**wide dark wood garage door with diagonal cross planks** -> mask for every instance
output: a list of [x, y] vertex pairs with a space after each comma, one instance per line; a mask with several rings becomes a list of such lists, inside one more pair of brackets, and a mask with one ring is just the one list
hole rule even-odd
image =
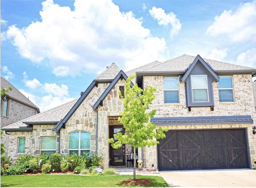
[[168, 131], [159, 170], [249, 168], [245, 129]]

